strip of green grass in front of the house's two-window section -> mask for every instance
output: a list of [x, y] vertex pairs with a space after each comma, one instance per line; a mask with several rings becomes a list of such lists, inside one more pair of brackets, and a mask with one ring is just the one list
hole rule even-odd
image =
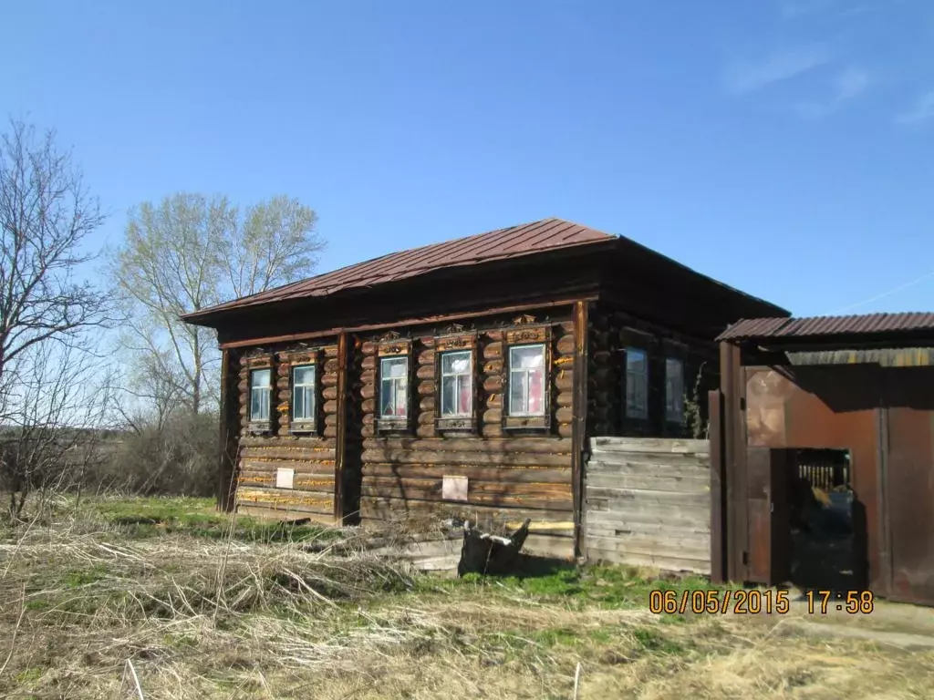
[[213, 498], [134, 497], [90, 501], [92, 515], [118, 525], [132, 539], [183, 533], [209, 539], [246, 542], [281, 542], [333, 539], [336, 531], [324, 525], [289, 525], [237, 515], [231, 532], [231, 517], [215, 511]]

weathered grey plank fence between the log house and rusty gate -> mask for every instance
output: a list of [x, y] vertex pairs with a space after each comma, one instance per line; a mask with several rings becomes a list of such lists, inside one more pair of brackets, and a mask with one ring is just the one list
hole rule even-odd
[[586, 471], [590, 562], [710, 573], [710, 443], [594, 438]]

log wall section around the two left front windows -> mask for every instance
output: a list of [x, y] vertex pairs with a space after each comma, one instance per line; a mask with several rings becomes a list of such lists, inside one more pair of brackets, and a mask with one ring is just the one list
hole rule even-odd
[[[257, 350], [240, 360], [236, 489], [239, 512], [333, 522], [337, 346], [319, 346], [314, 351], [318, 415], [316, 430], [310, 434], [290, 432], [290, 375], [296, 349]], [[255, 357], [270, 357], [274, 377], [270, 429], [261, 434], [249, 430], [249, 371], [250, 361]], [[292, 488], [276, 488], [277, 469], [294, 469]]]

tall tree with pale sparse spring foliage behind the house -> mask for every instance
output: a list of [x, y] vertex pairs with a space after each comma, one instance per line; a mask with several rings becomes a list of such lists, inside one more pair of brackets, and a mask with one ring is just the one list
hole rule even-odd
[[160, 420], [172, 407], [217, 409], [214, 331], [179, 319], [305, 276], [323, 243], [312, 209], [276, 197], [241, 211], [225, 197], [181, 193], [129, 215], [110, 270], [126, 313], [132, 390]]

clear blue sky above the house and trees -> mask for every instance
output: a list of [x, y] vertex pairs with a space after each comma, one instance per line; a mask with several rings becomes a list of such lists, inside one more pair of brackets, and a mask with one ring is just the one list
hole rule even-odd
[[[934, 310], [934, 4], [0, 2], [112, 213], [318, 211], [324, 272], [563, 217], [798, 315]], [[10, 31], [12, 30], [12, 31]], [[913, 283], [913, 284], [912, 284]]]

